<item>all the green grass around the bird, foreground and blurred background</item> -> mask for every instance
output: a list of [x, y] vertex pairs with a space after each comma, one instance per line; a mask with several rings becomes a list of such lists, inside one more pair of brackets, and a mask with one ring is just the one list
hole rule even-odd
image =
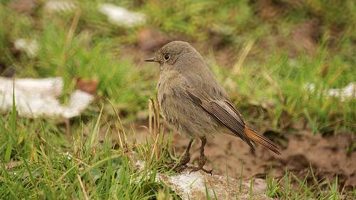
[[[153, 181], [157, 170], [164, 168], [159, 161], [167, 159], [165, 152], [172, 152], [171, 140], [155, 135], [145, 145], [125, 144], [123, 137], [117, 139], [121, 141], [117, 149], [109, 140], [96, 142], [99, 130], [115, 127], [118, 116], [120, 122], [128, 124], [139, 118], [138, 113], [143, 113], [144, 120], [150, 114], [147, 100], [155, 96], [158, 69], [137, 62], [144, 60], [137, 38], [145, 28], [206, 44], [209, 51], [198, 50], [204, 52], [206, 62], [241, 114], [248, 116], [248, 123], [281, 135], [299, 121], [306, 122], [315, 134], [337, 134], [340, 130], [355, 134], [355, 98], [340, 101], [325, 98], [322, 92], [356, 80], [354, 1], [111, 1], [147, 14], [147, 24], [133, 28], [109, 23], [97, 9], [101, 2], [75, 3], [76, 9], [64, 13], [48, 13], [40, 2], [31, 13], [19, 13], [12, 9], [12, 1], [1, 1], [1, 76], [12, 69], [18, 78], [61, 76], [65, 83], [63, 103], [74, 90], [76, 77], [98, 78], [99, 83], [96, 102], [70, 120], [70, 136], [63, 135], [65, 129], [56, 120], [25, 119], [16, 112], [1, 112], [0, 196], [178, 199], [167, 186]], [[313, 38], [312, 54], [293, 47], [290, 39], [300, 23], [311, 19], [316, 19], [321, 29]], [[37, 41], [36, 56], [16, 50], [18, 38]], [[223, 56], [230, 64], [222, 65], [216, 60], [221, 60], [219, 52], [225, 53], [226, 48], [233, 56]], [[137, 55], [127, 52], [132, 49]], [[290, 56], [292, 51], [296, 51], [294, 56]], [[306, 83], [315, 84], [315, 91], [305, 90]], [[266, 102], [271, 106], [266, 107]], [[157, 110], [155, 113], [157, 119]], [[156, 131], [152, 127], [152, 132], [159, 132], [158, 127]], [[117, 127], [121, 133], [124, 130]], [[108, 130], [106, 138], [113, 132]], [[145, 159], [143, 172], [130, 162], [127, 148]], [[355, 149], [352, 144], [345, 154], [350, 156]], [[149, 170], [153, 173], [147, 173]], [[336, 190], [337, 180], [323, 180], [323, 186], [315, 180], [310, 186], [307, 179], [300, 181], [287, 171], [282, 179], [269, 177], [268, 181], [266, 193], [278, 199], [341, 199], [345, 194]], [[298, 187], [297, 192], [293, 187]], [[352, 195], [355, 198], [355, 189]]]

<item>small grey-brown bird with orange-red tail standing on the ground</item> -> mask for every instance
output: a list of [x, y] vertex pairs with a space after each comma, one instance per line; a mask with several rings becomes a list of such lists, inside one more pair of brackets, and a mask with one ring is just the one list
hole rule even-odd
[[[240, 137], [253, 150], [256, 142], [281, 155], [276, 144], [246, 125], [204, 58], [189, 43], [169, 42], [155, 57], [145, 61], [159, 63], [157, 101], [162, 117], [172, 129], [190, 140], [177, 164], [179, 169], [211, 174], [212, 170], [204, 169], [204, 147], [207, 140], [221, 133]], [[198, 139], [201, 140], [198, 167], [188, 167], [192, 142]]]

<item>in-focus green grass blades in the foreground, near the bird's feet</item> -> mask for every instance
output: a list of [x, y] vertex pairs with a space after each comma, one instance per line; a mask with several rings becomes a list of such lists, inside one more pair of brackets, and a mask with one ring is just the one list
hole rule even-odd
[[[4, 132], [0, 137], [0, 196], [6, 199], [179, 199], [167, 185], [155, 181], [157, 172], [167, 173], [163, 171], [166, 167], [162, 161], [167, 159], [164, 152], [171, 145], [167, 143], [169, 136], [164, 138], [162, 132], [156, 132], [147, 138], [147, 144], [129, 144], [125, 140], [127, 130], [121, 127], [118, 130], [121, 140], [117, 138], [119, 147], [112, 148], [110, 130], [106, 140], [102, 144], [98, 142], [100, 116], [95, 117], [93, 125], [82, 124], [73, 142], [66, 146], [59, 142], [61, 135], [46, 129], [48, 125], [42, 120], [28, 123], [27, 119], [9, 115], [0, 126]], [[88, 137], [83, 135], [85, 128], [90, 128]], [[135, 132], [131, 134], [136, 137]], [[12, 143], [10, 150], [9, 143]], [[9, 152], [11, 160], [6, 161]], [[146, 162], [143, 169], [135, 165], [137, 159]], [[311, 186], [307, 184], [309, 174], [314, 177]], [[267, 180], [266, 194], [277, 199], [343, 199], [345, 194], [352, 199], [356, 195], [355, 188], [339, 191], [337, 178], [335, 181], [315, 179], [311, 167], [303, 180], [288, 170], [277, 180], [271, 172]], [[211, 197], [206, 195], [208, 199]]]

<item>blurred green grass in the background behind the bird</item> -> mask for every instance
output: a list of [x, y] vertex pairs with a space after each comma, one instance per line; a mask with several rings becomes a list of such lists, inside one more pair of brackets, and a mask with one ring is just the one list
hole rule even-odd
[[[3, 16], [0, 65], [6, 67], [6, 71], [14, 68], [16, 77], [61, 76], [65, 87], [63, 96], [74, 89], [75, 77], [98, 78], [99, 102], [110, 98], [120, 114], [126, 116], [125, 120], [135, 120], [137, 112], [147, 110], [146, 102], [155, 93], [158, 75], [157, 69], [147, 68], [144, 62], [136, 63], [133, 56], [121, 58], [127, 55], [125, 46], [137, 43], [140, 30], [153, 26], [164, 33], [180, 34], [189, 41], [203, 43], [219, 36], [219, 46], [229, 45], [236, 52], [236, 59], [231, 60], [232, 68], [223, 68], [214, 61], [217, 50], [204, 56], [209, 56], [206, 58], [211, 62], [209, 66], [232, 93], [231, 98], [236, 100], [241, 112], [250, 115], [253, 102], [268, 100], [275, 104], [271, 110], [261, 110], [258, 104], [253, 110], [258, 110], [254, 115], [261, 116], [259, 119], [268, 117], [273, 130], [286, 130], [295, 121], [307, 120], [315, 133], [355, 132], [352, 125], [356, 120], [355, 99], [323, 100], [318, 93], [308, 93], [303, 88], [306, 83], [317, 85], [316, 90], [343, 88], [356, 80], [353, 1], [345, 1], [345, 4], [321, 0], [300, 4], [276, 1], [267, 5], [228, 0], [146, 1], [143, 4], [122, 1], [119, 5], [147, 14], [147, 25], [135, 28], [110, 24], [96, 9], [99, 3], [85, 1], [77, 4], [77, 9], [63, 14], [48, 14], [43, 4], [38, 4], [30, 16], [16, 13], [9, 1], [4, 2], [0, 9]], [[271, 14], [264, 16], [263, 11]], [[314, 56], [298, 50], [295, 57], [290, 58], [290, 35], [308, 19], [318, 19], [323, 28]], [[40, 48], [36, 58], [15, 51], [11, 43], [16, 38], [38, 41]], [[264, 41], [268, 41], [268, 49], [263, 47]], [[226, 78], [232, 81], [224, 83]], [[229, 87], [231, 85], [233, 87]], [[241, 95], [246, 98], [241, 99]], [[105, 114], [112, 113], [106, 107], [105, 111]], [[249, 120], [261, 123], [256, 117]]]

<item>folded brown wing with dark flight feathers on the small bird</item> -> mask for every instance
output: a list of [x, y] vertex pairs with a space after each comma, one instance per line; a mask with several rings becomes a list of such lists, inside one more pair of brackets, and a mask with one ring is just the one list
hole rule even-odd
[[245, 122], [241, 117], [241, 114], [236, 107], [230, 102], [230, 100], [213, 99], [209, 97], [204, 91], [192, 88], [187, 83], [182, 84], [185, 92], [192, 99], [200, 105], [206, 112], [214, 116], [216, 120], [225, 125], [242, 140], [244, 140], [252, 149], [253, 144], [248, 139], [245, 132]]

